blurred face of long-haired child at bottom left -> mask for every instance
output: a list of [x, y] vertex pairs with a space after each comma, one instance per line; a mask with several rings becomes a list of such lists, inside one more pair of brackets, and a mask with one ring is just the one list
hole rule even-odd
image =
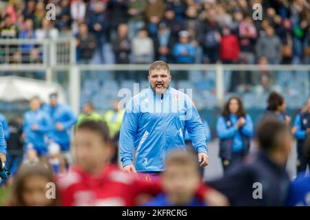
[[46, 197], [48, 179], [41, 176], [27, 177], [23, 182], [21, 197], [25, 206], [49, 206], [52, 199]]

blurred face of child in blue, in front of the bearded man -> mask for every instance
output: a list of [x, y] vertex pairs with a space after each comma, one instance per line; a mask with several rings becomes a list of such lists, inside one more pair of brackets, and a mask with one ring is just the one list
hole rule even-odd
[[163, 190], [175, 205], [189, 203], [200, 183], [198, 170], [194, 166], [170, 164], [163, 173]]

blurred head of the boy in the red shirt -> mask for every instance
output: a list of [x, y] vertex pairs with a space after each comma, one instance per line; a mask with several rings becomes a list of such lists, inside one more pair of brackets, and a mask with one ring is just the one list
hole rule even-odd
[[101, 121], [81, 122], [74, 130], [74, 163], [87, 173], [99, 173], [113, 155], [109, 129]]

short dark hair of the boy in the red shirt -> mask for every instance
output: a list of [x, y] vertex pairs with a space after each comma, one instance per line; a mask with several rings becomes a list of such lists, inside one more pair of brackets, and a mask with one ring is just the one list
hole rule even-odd
[[105, 124], [105, 122], [85, 120], [81, 122], [81, 124], [78, 124], [74, 127], [74, 133], [76, 133], [76, 131], [83, 130], [83, 129], [98, 133], [101, 136], [103, 142], [105, 142], [106, 144], [112, 143], [112, 140], [110, 137], [110, 131], [107, 127], [107, 124]]

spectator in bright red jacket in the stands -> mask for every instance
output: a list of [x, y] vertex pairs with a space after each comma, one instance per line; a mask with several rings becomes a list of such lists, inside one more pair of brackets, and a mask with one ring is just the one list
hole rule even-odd
[[240, 53], [238, 38], [231, 34], [229, 27], [226, 25], [222, 28], [222, 38], [220, 39], [220, 60], [222, 63], [237, 63]]

